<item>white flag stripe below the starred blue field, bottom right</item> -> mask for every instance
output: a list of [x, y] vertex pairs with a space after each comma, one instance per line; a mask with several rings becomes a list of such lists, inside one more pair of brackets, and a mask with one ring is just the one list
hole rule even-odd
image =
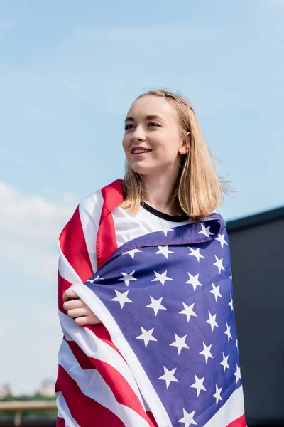
[[243, 386], [231, 394], [222, 408], [212, 416], [204, 427], [226, 427], [242, 415], [244, 415]]

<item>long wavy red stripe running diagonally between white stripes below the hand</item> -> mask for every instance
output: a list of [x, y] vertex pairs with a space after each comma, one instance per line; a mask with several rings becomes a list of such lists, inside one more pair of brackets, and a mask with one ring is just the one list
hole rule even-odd
[[97, 369], [99, 374], [102, 375], [105, 383], [113, 392], [116, 401], [118, 401], [119, 404], [128, 406], [133, 409], [133, 411], [136, 411], [136, 413], [148, 421], [149, 426], [154, 427], [153, 422], [146, 415], [146, 412], [141, 405], [141, 401], [139, 401], [133, 389], [131, 389], [131, 386], [129, 386], [129, 383], [124, 379], [124, 376], [122, 376], [119, 371], [107, 362], [94, 359], [93, 357], [88, 357], [75, 341], [67, 341], [67, 343], [82, 369]]

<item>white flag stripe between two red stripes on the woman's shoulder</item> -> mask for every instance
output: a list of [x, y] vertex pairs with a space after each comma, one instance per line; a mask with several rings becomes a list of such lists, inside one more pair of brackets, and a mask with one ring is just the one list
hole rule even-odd
[[102, 191], [97, 190], [79, 205], [84, 240], [86, 241], [93, 272], [97, 271], [97, 232], [103, 204]]

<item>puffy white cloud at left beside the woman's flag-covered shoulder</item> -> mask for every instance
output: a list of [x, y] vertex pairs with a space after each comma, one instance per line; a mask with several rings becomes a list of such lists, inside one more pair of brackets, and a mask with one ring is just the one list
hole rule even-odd
[[23, 273], [54, 280], [58, 236], [74, 211], [75, 198], [68, 194], [62, 204], [54, 204], [39, 196], [18, 194], [1, 182], [0, 206], [0, 258], [4, 268], [17, 265]]

